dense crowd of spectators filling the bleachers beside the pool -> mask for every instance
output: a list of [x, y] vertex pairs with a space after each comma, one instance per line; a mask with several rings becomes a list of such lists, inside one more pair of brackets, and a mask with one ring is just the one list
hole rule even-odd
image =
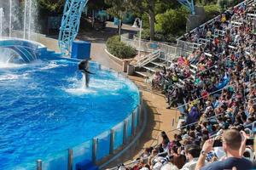
[[184, 37], [206, 41], [152, 80], [184, 121], [173, 140], [162, 132], [161, 143], [143, 150], [136, 165], [119, 169], [253, 169], [253, 144], [246, 142], [256, 121], [255, 19], [247, 18], [254, 11], [255, 2], [242, 3]]

